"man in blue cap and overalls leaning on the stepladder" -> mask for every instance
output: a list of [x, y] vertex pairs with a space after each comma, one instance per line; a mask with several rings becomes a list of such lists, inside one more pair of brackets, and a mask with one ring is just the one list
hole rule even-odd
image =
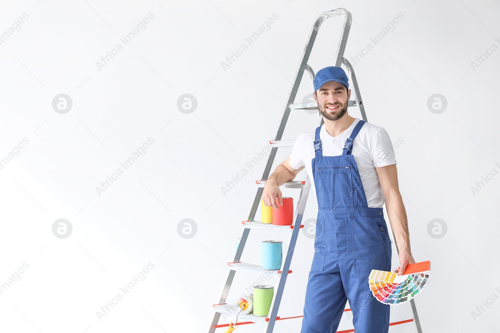
[[313, 96], [324, 125], [298, 135], [262, 193], [266, 206], [279, 209], [279, 186], [304, 167], [313, 180], [318, 214], [301, 333], [336, 332], [347, 300], [356, 333], [388, 332], [389, 306], [375, 300], [368, 287], [372, 269], [390, 271], [384, 198], [399, 249], [398, 274], [414, 263], [392, 143], [382, 127], [349, 116], [348, 88], [342, 68], [317, 72]]

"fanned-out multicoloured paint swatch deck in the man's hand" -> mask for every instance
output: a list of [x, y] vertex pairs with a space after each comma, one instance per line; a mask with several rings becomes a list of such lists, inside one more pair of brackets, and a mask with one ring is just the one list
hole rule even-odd
[[368, 284], [371, 293], [381, 303], [394, 305], [411, 300], [427, 285], [430, 261], [406, 266], [402, 275], [395, 272], [371, 270]]

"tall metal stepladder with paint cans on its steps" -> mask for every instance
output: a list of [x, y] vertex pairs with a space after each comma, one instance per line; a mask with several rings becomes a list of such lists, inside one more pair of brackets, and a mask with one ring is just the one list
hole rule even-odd
[[[301, 222], [302, 222], [303, 212], [305, 209], [305, 204], [307, 202], [307, 196], [308, 196], [309, 189], [310, 189], [310, 179], [309, 179], [307, 173], [305, 174], [304, 181], [289, 181], [289, 182], [286, 182], [283, 185], [281, 185], [282, 188], [300, 188], [301, 189], [299, 199], [298, 199], [298, 202], [297, 202], [297, 205], [295, 208], [294, 216], [293, 216], [293, 224], [291, 226], [275, 226], [275, 225], [262, 224], [261, 222], [253, 221], [253, 218], [255, 217], [257, 207], [260, 203], [260, 197], [262, 195], [264, 183], [265, 183], [265, 180], [267, 179], [267, 177], [269, 176], [269, 172], [271, 170], [271, 166], [272, 166], [272, 163], [274, 161], [274, 157], [276, 155], [277, 148], [278, 147], [292, 147], [293, 143], [295, 141], [295, 140], [281, 140], [282, 134], [283, 134], [284, 129], [285, 129], [286, 122], [288, 120], [288, 116], [290, 114], [290, 111], [292, 109], [296, 109], [296, 110], [298, 110], [298, 109], [301, 109], [301, 110], [316, 109], [317, 110], [318, 109], [317, 103], [315, 103], [315, 102], [298, 103], [298, 104], [293, 104], [293, 102], [295, 100], [295, 96], [296, 96], [298, 87], [300, 85], [300, 81], [302, 79], [302, 75], [304, 73], [304, 70], [307, 70], [307, 72], [310, 74], [311, 81], [314, 80], [315, 74], [314, 74], [312, 68], [307, 64], [307, 60], [309, 59], [309, 55], [310, 55], [311, 50], [312, 50], [312, 45], [313, 45], [314, 40], [317, 36], [319, 26], [321, 25], [321, 23], [325, 19], [327, 19], [329, 17], [333, 17], [333, 16], [342, 15], [342, 14], [345, 15], [345, 18], [343, 21], [342, 32], [340, 34], [340, 40], [339, 40], [339, 43], [337, 46], [334, 65], [340, 66], [341, 64], [344, 64], [346, 66], [347, 71], [348, 71], [347, 75], [350, 77], [351, 85], [354, 89], [354, 98], [355, 98], [354, 100], [348, 101], [348, 107], [358, 106], [363, 120], [367, 121], [366, 114], [364, 112], [364, 106], [363, 106], [362, 100], [361, 100], [361, 95], [359, 93], [359, 88], [357, 85], [356, 77], [354, 75], [354, 70], [352, 69], [352, 66], [349, 63], [349, 61], [347, 61], [347, 59], [345, 59], [343, 57], [343, 53], [345, 50], [345, 44], [347, 42], [347, 36], [349, 33], [350, 24], [351, 24], [351, 20], [352, 20], [351, 13], [344, 8], [337, 8], [337, 9], [325, 11], [322, 14], [320, 14], [316, 18], [316, 20], [314, 21], [314, 24], [311, 28], [310, 33], [309, 33], [308, 41], [305, 45], [305, 48], [304, 48], [304, 51], [302, 54], [302, 60], [301, 60], [300, 65], [298, 67], [297, 73], [295, 75], [295, 80], [293, 81], [293, 85], [290, 89], [288, 101], [286, 103], [286, 107], [285, 107], [283, 116], [281, 118], [276, 137], [273, 141], [269, 141], [272, 149], [271, 149], [271, 152], [270, 152], [269, 157], [267, 159], [267, 163], [265, 165], [264, 172], [262, 174], [262, 180], [256, 181], [256, 183], [258, 184], [257, 192], [255, 194], [253, 204], [251, 205], [247, 221], [242, 221], [243, 231], [241, 233], [241, 237], [239, 239], [238, 246], [235, 250], [233, 260], [232, 260], [232, 262], [227, 263], [227, 265], [229, 266], [230, 269], [227, 272], [226, 281], [225, 281], [225, 284], [222, 288], [219, 302], [217, 304], [213, 305], [213, 307], [215, 308], [215, 314], [213, 316], [213, 320], [211, 322], [210, 329], [208, 331], [209, 333], [215, 333], [215, 330], [217, 328], [224, 328], [224, 327], [227, 328], [227, 325], [218, 325], [218, 321], [219, 321], [221, 314], [230, 315], [231, 318], [234, 318], [235, 315], [238, 313], [239, 308], [236, 305], [225, 303], [226, 299], [227, 299], [227, 295], [229, 293], [229, 289], [231, 287], [231, 284], [232, 284], [232, 281], [234, 278], [234, 274], [236, 271], [251, 272], [251, 273], [256, 273], [256, 274], [262, 274], [262, 273], [266, 272], [266, 273], [270, 274], [271, 276], [274, 276], [274, 278], [277, 278], [277, 286], [274, 288], [274, 297], [272, 299], [272, 303], [270, 306], [269, 315], [267, 317], [261, 317], [261, 316], [254, 316], [252, 314], [245, 315], [243, 313], [240, 313], [238, 315], [238, 323], [241, 320], [243, 320], [243, 321], [253, 322], [253, 323], [257, 323], [257, 324], [262, 324], [264, 326], [263, 332], [264, 333], [271, 333], [274, 329], [274, 324], [275, 324], [276, 320], [287, 319], [287, 318], [277, 317], [277, 312], [278, 312], [279, 304], [281, 302], [281, 297], [282, 297], [284, 286], [286, 283], [286, 278], [287, 278], [288, 274], [291, 273], [289, 268], [290, 268], [291, 258], [293, 256], [293, 250], [295, 248], [295, 243], [296, 243], [296, 240], [298, 237], [298, 232], [299, 232], [300, 228], [303, 227], [303, 225], [301, 225]], [[319, 114], [319, 112], [318, 112], [318, 117], [320, 118], [319, 125], [322, 125], [323, 119], [322, 119], [321, 115]], [[311, 142], [311, 144], [312, 144], [312, 142]], [[246, 239], [247, 239], [248, 234], [250, 232], [250, 229], [265, 229], [265, 230], [272, 230], [272, 231], [276, 231], [276, 232], [285, 232], [285, 233], [290, 234], [287, 247], [284, 251], [285, 255], [283, 258], [281, 270], [279, 270], [279, 271], [264, 270], [264, 269], [262, 269], [262, 266], [248, 264], [248, 263], [241, 263], [239, 261], [239, 259], [241, 258], [241, 254], [243, 253], [245, 242], [246, 242]], [[392, 242], [392, 240], [394, 240], [394, 242], [395, 242], [395, 238], [394, 238], [394, 234], [393, 234], [392, 230], [391, 230], [391, 234], [392, 234], [391, 242]], [[396, 250], [397, 250], [397, 253], [399, 253], [397, 246], [396, 246]], [[410, 304], [411, 304], [411, 310], [413, 313], [413, 319], [402, 321], [402, 322], [391, 323], [391, 325], [414, 322], [416, 329], [417, 329], [417, 332], [421, 333], [422, 331], [420, 328], [420, 323], [418, 320], [418, 315], [416, 312], [416, 307], [415, 307], [413, 299], [410, 300]], [[298, 317], [301, 317], [301, 316], [298, 316]], [[297, 318], [297, 317], [290, 317], [290, 318]], [[353, 332], [353, 330], [342, 331], [342, 332]]]

